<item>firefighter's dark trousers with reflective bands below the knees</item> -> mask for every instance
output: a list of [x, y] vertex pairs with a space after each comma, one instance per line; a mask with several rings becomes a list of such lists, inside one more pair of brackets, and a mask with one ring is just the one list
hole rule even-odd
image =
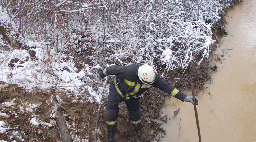
[[105, 119], [107, 123], [108, 131], [115, 131], [117, 127], [118, 117], [118, 104], [122, 101], [125, 102], [126, 107], [130, 114], [130, 119], [135, 130], [141, 129], [141, 114], [139, 108], [139, 98], [131, 98], [124, 100], [116, 91], [114, 83], [109, 86], [108, 103], [105, 113]]

